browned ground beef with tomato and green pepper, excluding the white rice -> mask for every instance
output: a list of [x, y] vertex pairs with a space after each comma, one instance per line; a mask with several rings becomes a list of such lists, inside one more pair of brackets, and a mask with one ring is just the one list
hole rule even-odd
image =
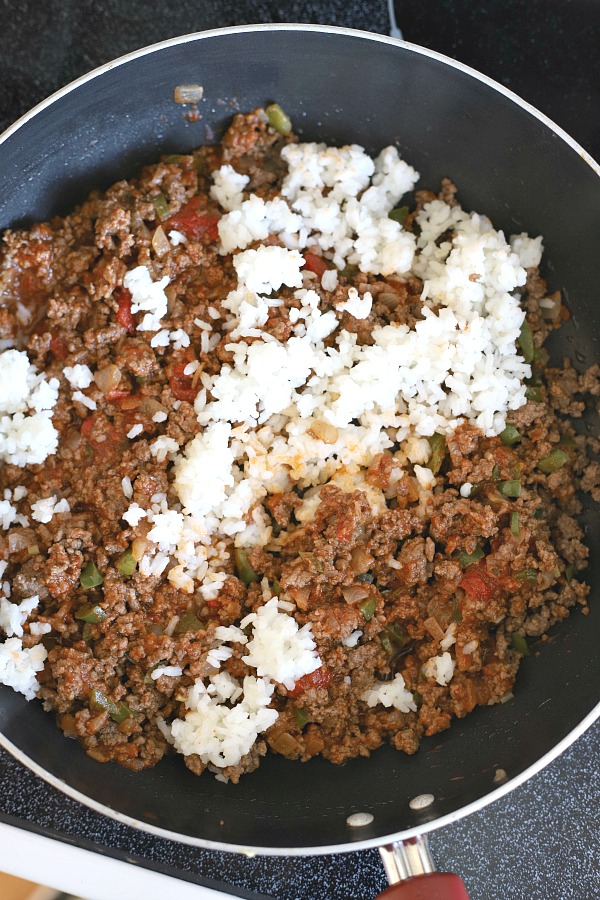
[[[157, 719], [182, 715], [189, 685], [214, 671], [206, 656], [215, 628], [264, 602], [260, 585], [244, 583], [233, 563], [219, 596], [204, 601], [164, 576], [143, 577], [135, 565], [124, 571], [118, 561], [131, 550], [135, 564], [143, 552], [138, 532], [122, 518], [131, 500], [144, 507], [159, 492], [177, 499], [169, 459], [152, 455], [151, 441], [166, 435], [182, 445], [199, 431], [193, 401], [200, 372], [216, 372], [231, 358], [226, 338], [207, 353], [194, 326], [195, 319], [211, 318], [208, 307], [221, 315], [221, 301], [236, 283], [231, 257], [217, 251], [210, 172], [231, 163], [250, 176], [252, 190], [272, 197], [282, 177], [282, 140], [260, 112], [238, 115], [221, 146], [165, 157], [139, 178], [93, 193], [64, 219], [4, 234], [1, 337], [60, 379], [61, 392], [53, 419], [60, 433], [56, 454], [26, 469], [4, 466], [2, 488], [27, 488], [26, 503], [17, 504], [24, 514], [50, 495], [66, 498], [71, 512], [11, 528], [0, 537], [0, 558], [8, 562], [11, 599], [38, 594], [30, 622], [52, 628], [42, 638], [49, 651], [39, 677], [44, 705], [99, 761], [138, 770], [168, 752]], [[441, 197], [453, 203], [455, 192], [444, 180]], [[432, 196], [419, 192], [418, 204]], [[165, 249], [157, 242], [159, 226], [163, 236], [181, 231], [187, 243]], [[413, 227], [412, 215], [405, 227]], [[133, 265], [147, 266], [154, 278], [169, 276], [165, 327], [184, 329], [189, 347], [153, 348], [151, 333], [135, 331], [123, 289]], [[339, 284], [337, 293], [326, 292], [315, 276], [324, 309], [349, 284], [368, 288], [374, 298], [367, 319], [345, 314], [342, 320], [362, 344], [376, 325], [413, 325], [421, 315], [417, 279], [401, 283], [347, 270]], [[271, 309], [265, 329], [285, 341], [297, 301], [288, 289], [281, 295], [285, 302]], [[364, 492], [333, 485], [323, 489], [314, 521], [305, 524], [295, 519], [297, 492], [269, 497], [270, 515], [287, 539], [251, 551], [248, 563], [256, 575], [279, 583], [296, 604], [299, 623], [311, 623], [323, 665], [292, 691], [278, 687], [277, 722], [225, 776], [235, 781], [252, 771], [266, 745], [289, 758], [322, 754], [335, 763], [368, 756], [385, 740], [414, 753], [423, 735], [447, 728], [452, 717], [510, 698], [528, 652], [525, 636], [539, 638], [576, 604], [587, 612], [588, 588], [577, 577], [588, 556], [577, 491], [597, 498], [599, 471], [588, 460], [591, 441], [571, 420], [581, 416], [586, 394], [598, 395], [598, 367], [580, 374], [568, 359], [560, 368], [546, 365], [543, 340], [566, 314], [559, 303], [560, 314], [544, 318], [539, 301], [546, 296], [545, 282], [530, 271], [523, 302], [537, 352], [531, 400], [510, 416], [519, 435], [507, 443], [462, 425], [442, 442], [440, 477], [427, 508], [407, 476], [376, 517]], [[200, 369], [185, 374], [192, 360]], [[88, 391], [94, 411], [72, 399], [65, 381], [64, 367], [78, 363], [97, 373]], [[160, 421], [156, 414], [164, 412], [168, 418]], [[129, 440], [138, 424], [141, 436]], [[557, 448], [566, 464], [540, 468]], [[393, 471], [391, 454], [382, 455], [367, 482], [385, 490]], [[131, 500], [123, 478], [130, 479]], [[465, 482], [473, 485], [467, 497], [459, 490]], [[518, 490], [507, 488], [511, 482]], [[81, 576], [90, 562], [102, 584], [85, 589]], [[349, 602], [356, 587], [361, 600]], [[441, 653], [452, 623], [456, 670], [441, 685], [424, 665]], [[355, 631], [362, 635], [353, 647], [342, 643]], [[24, 646], [39, 640], [26, 625]], [[236, 677], [250, 671], [241, 656], [236, 651], [224, 663]], [[159, 665], [180, 666], [183, 675], [154, 680]], [[374, 679], [391, 680], [397, 672], [414, 692], [416, 712], [369, 708], [360, 699]], [[197, 756], [186, 763], [197, 773], [205, 768]]]

